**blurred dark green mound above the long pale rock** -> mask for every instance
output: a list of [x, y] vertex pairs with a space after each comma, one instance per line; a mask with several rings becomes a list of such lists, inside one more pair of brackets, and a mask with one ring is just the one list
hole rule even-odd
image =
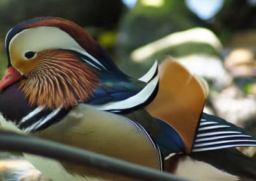
[[163, 38], [175, 31], [195, 26], [206, 27], [207, 23], [188, 10], [184, 1], [158, 1], [147, 4], [138, 1], [120, 22], [118, 52], [131, 52], [135, 48]]

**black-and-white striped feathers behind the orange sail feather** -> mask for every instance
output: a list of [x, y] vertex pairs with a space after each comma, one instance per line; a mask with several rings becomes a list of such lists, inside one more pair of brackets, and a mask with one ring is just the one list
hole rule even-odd
[[233, 124], [201, 119], [196, 134], [193, 152], [228, 147], [256, 146], [256, 140], [249, 133]]

